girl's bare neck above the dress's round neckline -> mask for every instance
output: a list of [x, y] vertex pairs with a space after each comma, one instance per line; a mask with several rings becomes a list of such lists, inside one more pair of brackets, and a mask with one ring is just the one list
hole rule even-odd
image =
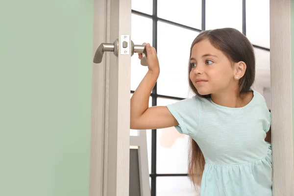
[[211, 99], [214, 103], [231, 108], [244, 107], [253, 98], [251, 91], [243, 93], [239, 96], [238, 91], [222, 92], [218, 94], [211, 94]]

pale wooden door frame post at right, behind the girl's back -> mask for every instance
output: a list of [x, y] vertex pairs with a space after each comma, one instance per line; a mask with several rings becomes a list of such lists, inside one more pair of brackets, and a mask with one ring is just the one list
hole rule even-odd
[[291, 0], [270, 0], [273, 196], [294, 195]]

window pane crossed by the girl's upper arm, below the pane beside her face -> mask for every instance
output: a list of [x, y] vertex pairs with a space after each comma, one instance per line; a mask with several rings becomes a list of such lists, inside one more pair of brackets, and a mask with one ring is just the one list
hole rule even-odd
[[[157, 105], [167, 105], [178, 100], [157, 98]], [[189, 136], [180, 134], [174, 127], [157, 129], [156, 172], [188, 172]]]

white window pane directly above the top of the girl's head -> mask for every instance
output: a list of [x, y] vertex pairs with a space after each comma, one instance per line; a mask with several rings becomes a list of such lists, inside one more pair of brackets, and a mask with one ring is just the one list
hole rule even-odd
[[242, 0], [206, 0], [205, 28], [232, 27], [242, 32]]

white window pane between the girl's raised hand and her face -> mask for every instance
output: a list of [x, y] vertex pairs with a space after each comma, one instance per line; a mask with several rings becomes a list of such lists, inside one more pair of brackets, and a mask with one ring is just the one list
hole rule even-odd
[[198, 32], [158, 22], [157, 53], [160, 74], [157, 94], [188, 98], [190, 47]]

